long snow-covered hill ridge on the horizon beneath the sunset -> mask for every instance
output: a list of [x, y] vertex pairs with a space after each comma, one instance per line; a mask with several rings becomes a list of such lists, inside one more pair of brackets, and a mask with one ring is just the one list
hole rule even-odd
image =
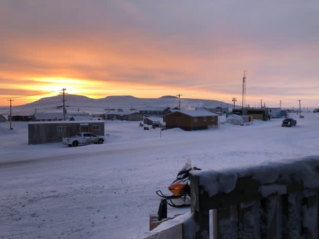
[[[180, 99], [182, 109], [194, 109], [195, 107], [227, 107], [227, 103], [217, 100], [204, 99]], [[12, 115], [31, 115], [34, 112], [61, 112], [63, 96], [45, 97], [29, 104], [13, 106]], [[160, 98], [136, 98], [133, 96], [108, 96], [101, 99], [92, 99], [86, 96], [65, 95], [65, 105], [68, 113], [95, 113], [100, 114], [109, 108], [141, 108], [147, 106], [179, 106], [179, 98], [176, 96], [162, 96]], [[232, 105], [229, 105], [231, 107]], [[0, 115], [9, 115], [9, 107], [0, 109]]]

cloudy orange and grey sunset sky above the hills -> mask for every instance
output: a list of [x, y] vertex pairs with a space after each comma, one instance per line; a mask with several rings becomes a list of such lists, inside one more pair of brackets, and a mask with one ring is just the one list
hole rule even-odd
[[[317, 1], [1, 0], [0, 105], [69, 94], [318, 107]], [[280, 105], [281, 102], [281, 105]]]

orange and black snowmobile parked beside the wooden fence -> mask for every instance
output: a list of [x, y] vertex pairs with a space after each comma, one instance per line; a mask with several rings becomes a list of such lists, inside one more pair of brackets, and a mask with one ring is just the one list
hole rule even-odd
[[[201, 170], [192, 167], [189, 160], [186, 161], [185, 166], [178, 173], [176, 179], [171, 183], [167, 189], [172, 195], [164, 195], [161, 190], [157, 190], [156, 194], [167, 200], [167, 204], [174, 208], [182, 208], [190, 206], [190, 180], [189, 173], [193, 170]], [[177, 203], [180, 201], [181, 204]]]

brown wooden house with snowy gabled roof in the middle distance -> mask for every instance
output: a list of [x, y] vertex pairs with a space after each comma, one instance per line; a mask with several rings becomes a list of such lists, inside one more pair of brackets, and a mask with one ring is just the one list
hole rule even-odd
[[209, 111], [175, 111], [164, 116], [166, 128], [203, 130], [218, 127], [218, 115]]

